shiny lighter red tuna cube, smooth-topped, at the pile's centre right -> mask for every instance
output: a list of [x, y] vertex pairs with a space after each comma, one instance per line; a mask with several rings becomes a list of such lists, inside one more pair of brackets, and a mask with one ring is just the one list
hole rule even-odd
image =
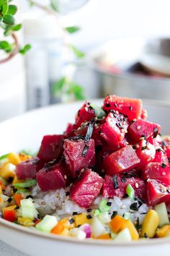
[[138, 155], [131, 145], [121, 148], [104, 158], [104, 170], [107, 174], [119, 174], [135, 168], [140, 163]]

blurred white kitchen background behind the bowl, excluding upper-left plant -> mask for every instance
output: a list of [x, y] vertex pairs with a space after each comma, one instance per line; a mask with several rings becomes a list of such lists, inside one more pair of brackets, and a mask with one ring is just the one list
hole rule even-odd
[[169, 0], [14, 4], [31, 48], [0, 64], [0, 121], [108, 93], [170, 102]]

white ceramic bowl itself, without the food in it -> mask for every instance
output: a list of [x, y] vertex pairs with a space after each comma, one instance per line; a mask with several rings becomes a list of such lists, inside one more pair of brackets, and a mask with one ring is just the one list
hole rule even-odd
[[[101, 100], [93, 101], [101, 103]], [[73, 121], [80, 103], [50, 106], [31, 111], [23, 116], [4, 121], [0, 124], [0, 154], [32, 148], [37, 150], [42, 136], [63, 132], [68, 121]], [[145, 101], [149, 120], [162, 125], [162, 134], [170, 134], [170, 104]], [[115, 243], [87, 239], [76, 239], [33, 231], [0, 218], [0, 239], [6, 244], [32, 256], [169, 256], [170, 239], [143, 239], [130, 243]]]

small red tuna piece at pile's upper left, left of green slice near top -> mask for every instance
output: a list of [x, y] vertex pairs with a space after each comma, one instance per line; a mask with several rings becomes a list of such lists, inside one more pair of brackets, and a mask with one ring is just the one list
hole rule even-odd
[[89, 102], [84, 103], [84, 105], [79, 109], [78, 113], [76, 114], [75, 129], [79, 128], [82, 123], [86, 121], [91, 121], [91, 119], [93, 118], [94, 109], [91, 108]]

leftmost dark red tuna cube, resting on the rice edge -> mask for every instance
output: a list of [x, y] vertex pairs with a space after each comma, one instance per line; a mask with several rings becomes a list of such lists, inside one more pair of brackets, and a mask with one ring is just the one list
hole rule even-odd
[[30, 158], [16, 166], [16, 175], [18, 179], [35, 179], [37, 171], [42, 168], [39, 158]]

